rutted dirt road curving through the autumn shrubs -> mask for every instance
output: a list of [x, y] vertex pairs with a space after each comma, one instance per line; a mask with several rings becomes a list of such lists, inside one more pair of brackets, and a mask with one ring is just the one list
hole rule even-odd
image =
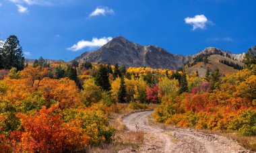
[[143, 144], [138, 149], [122, 150], [125, 152], [249, 152], [237, 142], [212, 134], [203, 134], [191, 129], [172, 127], [164, 130], [149, 125], [148, 117], [153, 111], [131, 113], [123, 118], [128, 130], [145, 132]]

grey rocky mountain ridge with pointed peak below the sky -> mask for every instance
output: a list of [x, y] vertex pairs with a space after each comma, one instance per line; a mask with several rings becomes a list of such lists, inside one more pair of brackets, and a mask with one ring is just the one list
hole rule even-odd
[[183, 56], [179, 54], [171, 54], [158, 46], [141, 46], [130, 42], [123, 37], [117, 37], [102, 46], [100, 49], [92, 52], [84, 52], [75, 58], [77, 62], [98, 62], [125, 65], [127, 67], [148, 66], [151, 68], [168, 68], [177, 70], [184, 64], [197, 59], [201, 56], [210, 56], [219, 54], [228, 56], [232, 60], [241, 62], [244, 54], [231, 54], [218, 48], [205, 48], [195, 55]]

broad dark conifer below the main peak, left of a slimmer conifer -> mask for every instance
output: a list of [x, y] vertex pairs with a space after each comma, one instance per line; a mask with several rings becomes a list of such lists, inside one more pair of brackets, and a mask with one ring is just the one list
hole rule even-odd
[[108, 80], [108, 68], [100, 64], [100, 68], [96, 72], [95, 84], [102, 87], [104, 91], [110, 91], [111, 85]]

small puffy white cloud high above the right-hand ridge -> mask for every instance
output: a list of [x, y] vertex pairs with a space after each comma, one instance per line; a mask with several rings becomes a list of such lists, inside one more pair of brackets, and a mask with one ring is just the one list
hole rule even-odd
[[194, 17], [186, 17], [185, 23], [193, 25], [193, 30], [199, 29], [205, 29], [206, 23], [211, 23], [208, 21], [207, 17], [205, 15], [195, 15]]

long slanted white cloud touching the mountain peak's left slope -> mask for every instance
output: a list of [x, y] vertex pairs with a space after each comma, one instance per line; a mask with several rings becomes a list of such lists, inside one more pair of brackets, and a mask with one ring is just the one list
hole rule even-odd
[[92, 38], [92, 41], [80, 40], [79, 42], [77, 42], [77, 44], [71, 46], [71, 48], [67, 48], [67, 50], [78, 51], [82, 50], [83, 48], [98, 48], [108, 43], [112, 39], [112, 37], [103, 37], [100, 39]]

